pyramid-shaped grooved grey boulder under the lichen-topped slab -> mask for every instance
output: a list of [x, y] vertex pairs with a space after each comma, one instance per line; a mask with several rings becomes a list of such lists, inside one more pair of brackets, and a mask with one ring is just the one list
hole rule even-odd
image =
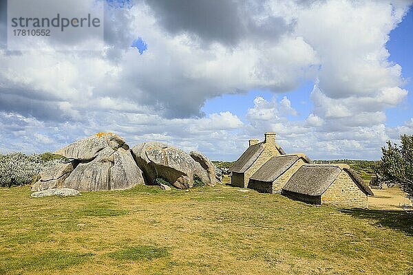
[[129, 150], [104, 148], [91, 162], [78, 166], [63, 187], [85, 191], [125, 190], [143, 184], [142, 172]]

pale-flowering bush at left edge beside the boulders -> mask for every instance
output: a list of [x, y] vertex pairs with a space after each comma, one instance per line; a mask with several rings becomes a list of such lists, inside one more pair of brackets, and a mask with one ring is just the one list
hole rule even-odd
[[11, 187], [32, 184], [42, 170], [63, 162], [62, 157], [51, 157], [51, 153], [25, 155], [10, 153], [0, 155], [0, 186]]

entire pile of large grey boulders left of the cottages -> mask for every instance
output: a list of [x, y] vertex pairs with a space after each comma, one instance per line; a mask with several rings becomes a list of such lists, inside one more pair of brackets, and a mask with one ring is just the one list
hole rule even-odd
[[125, 190], [138, 184], [156, 184], [158, 178], [181, 189], [199, 182], [207, 186], [220, 182], [215, 166], [202, 153], [187, 154], [160, 142], [144, 142], [130, 150], [125, 140], [113, 133], [97, 133], [54, 154], [68, 161], [41, 173], [32, 191]]

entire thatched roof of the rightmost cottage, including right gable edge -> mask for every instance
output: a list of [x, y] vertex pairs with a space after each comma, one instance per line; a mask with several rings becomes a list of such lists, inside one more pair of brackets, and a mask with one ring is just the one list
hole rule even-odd
[[289, 192], [300, 193], [310, 196], [320, 196], [333, 181], [341, 170], [345, 170], [353, 179], [354, 183], [366, 195], [374, 195], [372, 190], [364, 184], [363, 179], [355, 170], [347, 164], [311, 164], [301, 166], [297, 172], [288, 180], [282, 188]]

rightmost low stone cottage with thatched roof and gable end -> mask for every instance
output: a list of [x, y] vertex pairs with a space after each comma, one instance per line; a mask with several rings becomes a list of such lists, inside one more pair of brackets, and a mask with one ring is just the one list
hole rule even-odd
[[367, 208], [374, 195], [346, 164], [304, 164], [282, 188], [282, 195], [313, 204]]

